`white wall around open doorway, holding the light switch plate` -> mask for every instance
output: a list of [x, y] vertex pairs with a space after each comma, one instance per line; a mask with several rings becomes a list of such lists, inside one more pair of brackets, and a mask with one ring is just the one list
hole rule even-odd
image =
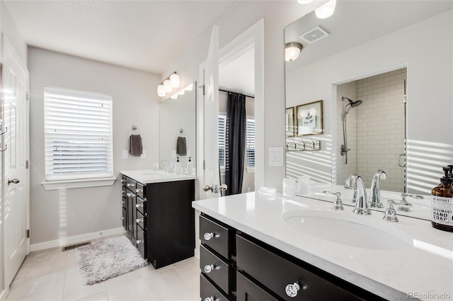
[[[268, 166], [268, 147], [285, 146], [285, 26], [314, 9], [297, 1], [240, 1], [216, 25], [219, 47], [264, 19], [264, 123], [265, 186], [282, 188], [285, 166]], [[178, 70], [182, 85], [198, 80], [198, 67], [206, 59], [211, 28], [186, 50], [164, 74]]]

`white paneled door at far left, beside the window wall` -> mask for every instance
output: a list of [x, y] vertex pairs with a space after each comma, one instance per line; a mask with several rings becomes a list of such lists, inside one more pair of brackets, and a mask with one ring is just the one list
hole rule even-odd
[[[28, 70], [3, 35], [4, 279], [11, 284], [29, 250]], [[6, 131], [7, 129], [7, 131]]]

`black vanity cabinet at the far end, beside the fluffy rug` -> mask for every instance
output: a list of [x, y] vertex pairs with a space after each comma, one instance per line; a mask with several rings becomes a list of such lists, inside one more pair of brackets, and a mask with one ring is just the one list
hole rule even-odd
[[143, 184], [122, 175], [122, 225], [154, 268], [193, 256], [195, 181]]

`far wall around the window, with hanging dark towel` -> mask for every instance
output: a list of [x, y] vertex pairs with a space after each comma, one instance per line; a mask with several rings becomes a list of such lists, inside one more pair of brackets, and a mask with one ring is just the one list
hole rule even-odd
[[[113, 186], [46, 191], [43, 86], [93, 91], [113, 96], [113, 171], [151, 169], [159, 159], [159, 76], [133, 69], [28, 49], [30, 71], [31, 244], [33, 249], [68, 237], [120, 229], [120, 181]], [[146, 159], [122, 159], [132, 125], [141, 130]], [[35, 246], [33, 248], [33, 246]]]

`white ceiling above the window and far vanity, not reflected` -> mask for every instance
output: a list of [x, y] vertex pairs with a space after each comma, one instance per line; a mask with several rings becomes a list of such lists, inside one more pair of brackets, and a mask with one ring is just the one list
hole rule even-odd
[[28, 45], [161, 74], [237, 1], [5, 3]]

